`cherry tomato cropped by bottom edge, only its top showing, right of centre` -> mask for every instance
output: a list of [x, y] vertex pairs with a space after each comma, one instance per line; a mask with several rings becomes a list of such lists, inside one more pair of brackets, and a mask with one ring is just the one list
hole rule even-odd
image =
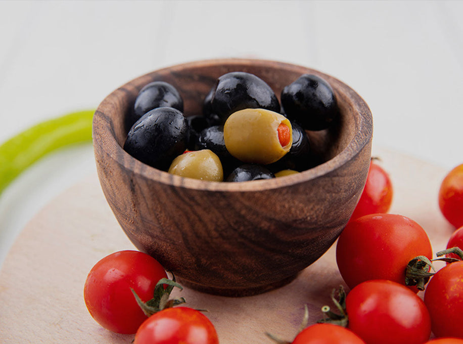
[[365, 344], [351, 330], [332, 324], [315, 324], [303, 329], [292, 344]]

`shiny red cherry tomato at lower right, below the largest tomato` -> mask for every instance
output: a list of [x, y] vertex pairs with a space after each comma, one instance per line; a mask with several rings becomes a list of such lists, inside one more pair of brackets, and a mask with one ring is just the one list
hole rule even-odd
[[366, 281], [346, 297], [349, 329], [367, 344], [422, 344], [431, 335], [423, 300], [407, 287], [387, 280]]

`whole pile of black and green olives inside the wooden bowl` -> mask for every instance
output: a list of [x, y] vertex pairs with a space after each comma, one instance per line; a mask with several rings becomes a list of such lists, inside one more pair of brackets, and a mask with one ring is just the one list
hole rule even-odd
[[339, 109], [330, 84], [312, 74], [287, 85], [281, 102], [256, 75], [230, 72], [205, 97], [202, 115], [184, 116], [179, 92], [154, 81], [125, 119], [124, 150], [155, 168], [207, 181], [298, 173], [311, 165], [306, 130], [329, 128]]

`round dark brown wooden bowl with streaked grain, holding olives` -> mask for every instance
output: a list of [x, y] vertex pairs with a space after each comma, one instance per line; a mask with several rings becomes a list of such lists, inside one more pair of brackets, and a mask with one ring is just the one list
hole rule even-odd
[[[205, 182], [170, 175], [122, 149], [124, 118], [144, 85], [173, 84], [189, 116], [202, 112], [216, 78], [230, 71], [261, 77], [277, 96], [304, 73], [331, 84], [341, 118], [330, 130], [308, 132], [319, 165], [271, 180]], [[360, 197], [372, 133], [368, 106], [343, 82], [301, 66], [249, 59], [186, 63], [138, 77], [103, 100], [93, 123], [100, 183], [129, 239], [184, 285], [229, 296], [284, 285], [328, 250]]]

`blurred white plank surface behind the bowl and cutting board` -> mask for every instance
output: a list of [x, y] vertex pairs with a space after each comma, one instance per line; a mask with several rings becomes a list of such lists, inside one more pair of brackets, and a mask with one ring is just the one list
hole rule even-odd
[[[457, 1], [0, 1], [0, 142], [160, 67], [255, 57], [341, 79], [369, 104], [374, 145], [450, 169], [463, 162], [462, 15]], [[72, 147], [0, 195], [0, 264], [44, 204], [95, 171], [91, 145]]]

